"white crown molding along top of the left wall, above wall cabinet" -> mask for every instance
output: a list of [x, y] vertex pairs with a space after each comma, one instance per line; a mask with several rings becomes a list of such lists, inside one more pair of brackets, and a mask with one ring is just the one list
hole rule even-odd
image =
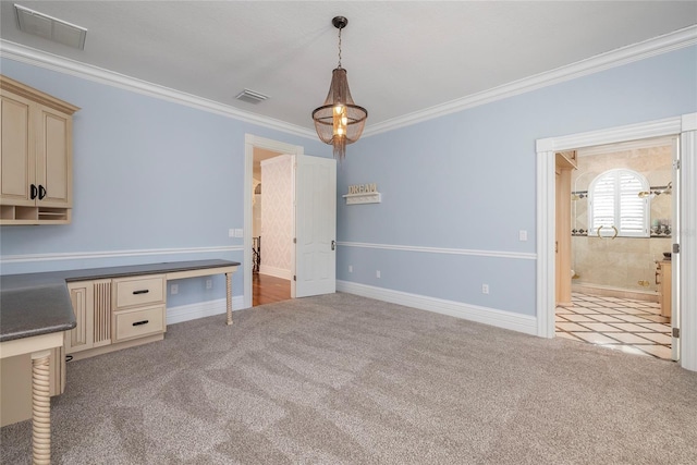
[[259, 126], [269, 127], [301, 137], [315, 138], [317, 134], [306, 127], [290, 124], [272, 118], [239, 110], [228, 105], [219, 103], [192, 94], [174, 90], [169, 87], [148, 83], [135, 77], [105, 70], [102, 68], [93, 66], [81, 63], [75, 60], [59, 57], [57, 54], [47, 53], [41, 50], [25, 47], [9, 40], [0, 39], [0, 57], [22, 63], [32, 64], [34, 66], [44, 68], [59, 73], [69, 74], [75, 77], [94, 81], [100, 84], [122, 88], [137, 94], [147, 95], [149, 97], [172, 101], [195, 108], [197, 110], [208, 111], [227, 118], [244, 121]]

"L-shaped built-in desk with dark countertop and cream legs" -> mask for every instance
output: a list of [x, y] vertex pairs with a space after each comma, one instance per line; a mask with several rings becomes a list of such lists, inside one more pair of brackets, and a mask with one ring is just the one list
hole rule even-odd
[[[34, 463], [50, 463], [50, 354], [51, 350], [63, 347], [64, 333], [77, 326], [69, 292], [71, 283], [96, 280], [127, 282], [129, 279], [145, 277], [147, 280], [152, 276], [162, 277], [167, 283], [169, 280], [224, 273], [228, 297], [227, 323], [232, 325], [232, 273], [239, 266], [236, 261], [196, 260], [0, 277], [0, 358], [23, 354], [30, 354], [32, 358]], [[127, 289], [127, 285], [123, 289]], [[124, 308], [124, 321], [131, 323], [130, 313], [132, 314], [134, 308], [137, 310], [137, 298], [143, 295], [143, 291], [134, 289], [131, 292], [135, 296], [135, 303], [126, 299], [121, 304]], [[163, 308], [163, 299], [161, 305]], [[132, 325], [139, 328], [143, 322], [133, 321]], [[133, 338], [126, 332], [125, 339]]]

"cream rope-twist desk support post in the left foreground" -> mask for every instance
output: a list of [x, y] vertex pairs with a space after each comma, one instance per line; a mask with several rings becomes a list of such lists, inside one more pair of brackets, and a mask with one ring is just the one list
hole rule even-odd
[[51, 463], [50, 355], [51, 351], [32, 354], [32, 456], [34, 464]]

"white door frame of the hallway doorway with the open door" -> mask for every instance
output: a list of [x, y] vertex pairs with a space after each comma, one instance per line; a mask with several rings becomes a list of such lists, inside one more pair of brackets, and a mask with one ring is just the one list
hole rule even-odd
[[[244, 135], [244, 254], [242, 264], [242, 269], [244, 271], [243, 308], [252, 307], [252, 188], [254, 183], [253, 169], [255, 147], [265, 150], [278, 151], [279, 154], [288, 154], [292, 156], [294, 160], [305, 152], [305, 148], [301, 145], [286, 144], [280, 140], [259, 137], [254, 134]], [[293, 197], [295, 197], [295, 192], [293, 192]], [[293, 231], [295, 231], [295, 216], [293, 216]], [[292, 264], [292, 267], [294, 267], [294, 264]], [[291, 294], [291, 298], [294, 295]]]

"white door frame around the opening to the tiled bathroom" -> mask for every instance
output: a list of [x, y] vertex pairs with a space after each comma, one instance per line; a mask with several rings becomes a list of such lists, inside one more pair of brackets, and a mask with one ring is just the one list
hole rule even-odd
[[677, 270], [681, 303], [680, 365], [697, 371], [697, 113], [626, 126], [571, 134], [536, 140], [537, 151], [537, 335], [554, 338], [554, 237], [555, 237], [555, 156], [563, 150], [597, 145], [680, 136], [680, 231], [682, 256]]

